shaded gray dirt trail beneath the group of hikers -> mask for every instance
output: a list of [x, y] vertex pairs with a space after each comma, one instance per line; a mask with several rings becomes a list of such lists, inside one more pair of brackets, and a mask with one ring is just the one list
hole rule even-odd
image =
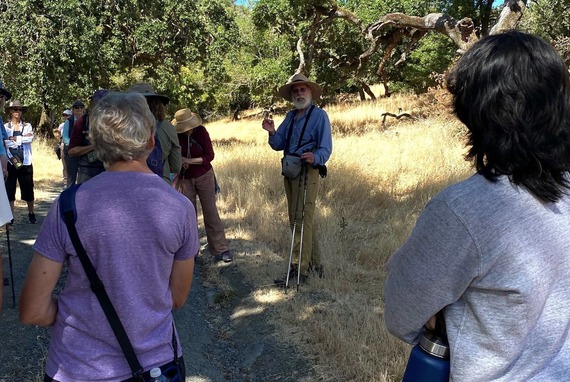
[[[10, 231], [14, 287], [17, 297], [32, 258], [31, 246], [61, 184], [54, 185], [49, 200], [36, 207], [38, 224], [27, 222], [23, 207], [16, 208]], [[5, 274], [8, 275], [6, 233], [0, 234]], [[207, 258], [197, 260], [192, 291], [186, 305], [174, 312], [187, 367], [186, 381], [319, 381], [302, 354], [274, 334], [267, 313], [257, 309], [254, 290], [240, 273], [238, 262], [220, 267], [220, 276], [231, 285], [232, 295], [220, 298], [216, 287], [204, 284], [202, 273], [211, 266]], [[4, 313], [0, 316], [0, 382], [42, 381], [49, 329], [24, 326], [12, 308], [11, 286], [4, 288]]]

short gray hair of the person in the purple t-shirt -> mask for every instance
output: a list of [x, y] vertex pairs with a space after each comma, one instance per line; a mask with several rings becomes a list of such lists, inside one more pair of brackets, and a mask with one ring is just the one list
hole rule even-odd
[[143, 95], [109, 93], [89, 114], [89, 138], [105, 166], [139, 159], [150, 153], [155, 123]]

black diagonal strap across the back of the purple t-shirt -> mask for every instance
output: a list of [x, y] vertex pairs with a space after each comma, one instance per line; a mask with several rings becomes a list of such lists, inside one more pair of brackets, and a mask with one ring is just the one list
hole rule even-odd
[[77, 234], [77, 229], [75, 228], [75, 222], [77, 221], [75, 194], [80, 186], [81, 184], [73, 185], [61, 193], [59, 197], [60, 215], [67, 226], [67, 231], [69, 232], [69, 237], [73, 243], [73, 248], [75, 248], [75, 251], [77, 252], [77, 257], [79, 257], [81, 265], [83, 265], [83, 268], [85, 269], [91, 290], [95, 293], [95, 296], [97, 296], [97, 300], [99, 300], [101, 308], [103, 308], [103, 312], [105, 312], [105, 316], [107, 317], [107, 320], [113, 329], [113, 333], [115, 333], [117, 341], [121, 346], [121, 350], [129, 363], [133, 377], [142, 380], [143, 368], [139, 363], [133, 346], [131, 345], [131, 341], [127, 336], [127, 332], [117, 315], [117, 311], [113, 307], [107, 291], [105, 291], [105, 286], [97, 275], [97, 271], [95, 270], [93, 263], [91, 263], [87, 252], [85, 252], [85, 248], [83, 247], [83, 244], [79, 239], [79, 235]]

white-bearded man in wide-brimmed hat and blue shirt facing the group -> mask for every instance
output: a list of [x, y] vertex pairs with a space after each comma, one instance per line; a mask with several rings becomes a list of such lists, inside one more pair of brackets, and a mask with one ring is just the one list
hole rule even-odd
[[313, 216], [319, 175], [323, 178], [326, 176], [325, 164], [332, 152], [332, 134], [327, 113], [313, 104], [313, 100], [318, 99], [322, 92], [319, 85], [302, 74], [295, 74], [278, 91], [281, 97], [293, 103], [295, 109], [287, 113], [277, 130], [270, 118], [265, 118], [262, 123], [263, 129], [269, 132], [271, 148], [283, 150], [282, 174], [289, 223], [295, 233], [290, 268], [285, 278], [275, 280], [276, 284], [285, 284], [287, 277], [303, 283], [311, 271], [319, 277], [323, 276]]

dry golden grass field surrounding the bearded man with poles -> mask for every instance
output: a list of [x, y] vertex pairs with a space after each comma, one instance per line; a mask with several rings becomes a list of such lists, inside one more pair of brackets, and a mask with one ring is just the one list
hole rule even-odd
[[290, 245], [281, 153], [267, 145], [260, 118], [207, 125], [222, 187], [218, 206], [236, 263], [259, 304], [271, 308], [280, 333], [301, 345], [323, 380], [401, 379], [409, 346], [384, 328], [386, 261], [426, 202], [471, 173], [455, 120], [382, 126], [383, 111], [412, 111], [416, 102], [391, 98], [327, 108], [334, 149], [316, 216], [326, 278], [311, 280], [300, 293], [271, 287], [286, 272]]

